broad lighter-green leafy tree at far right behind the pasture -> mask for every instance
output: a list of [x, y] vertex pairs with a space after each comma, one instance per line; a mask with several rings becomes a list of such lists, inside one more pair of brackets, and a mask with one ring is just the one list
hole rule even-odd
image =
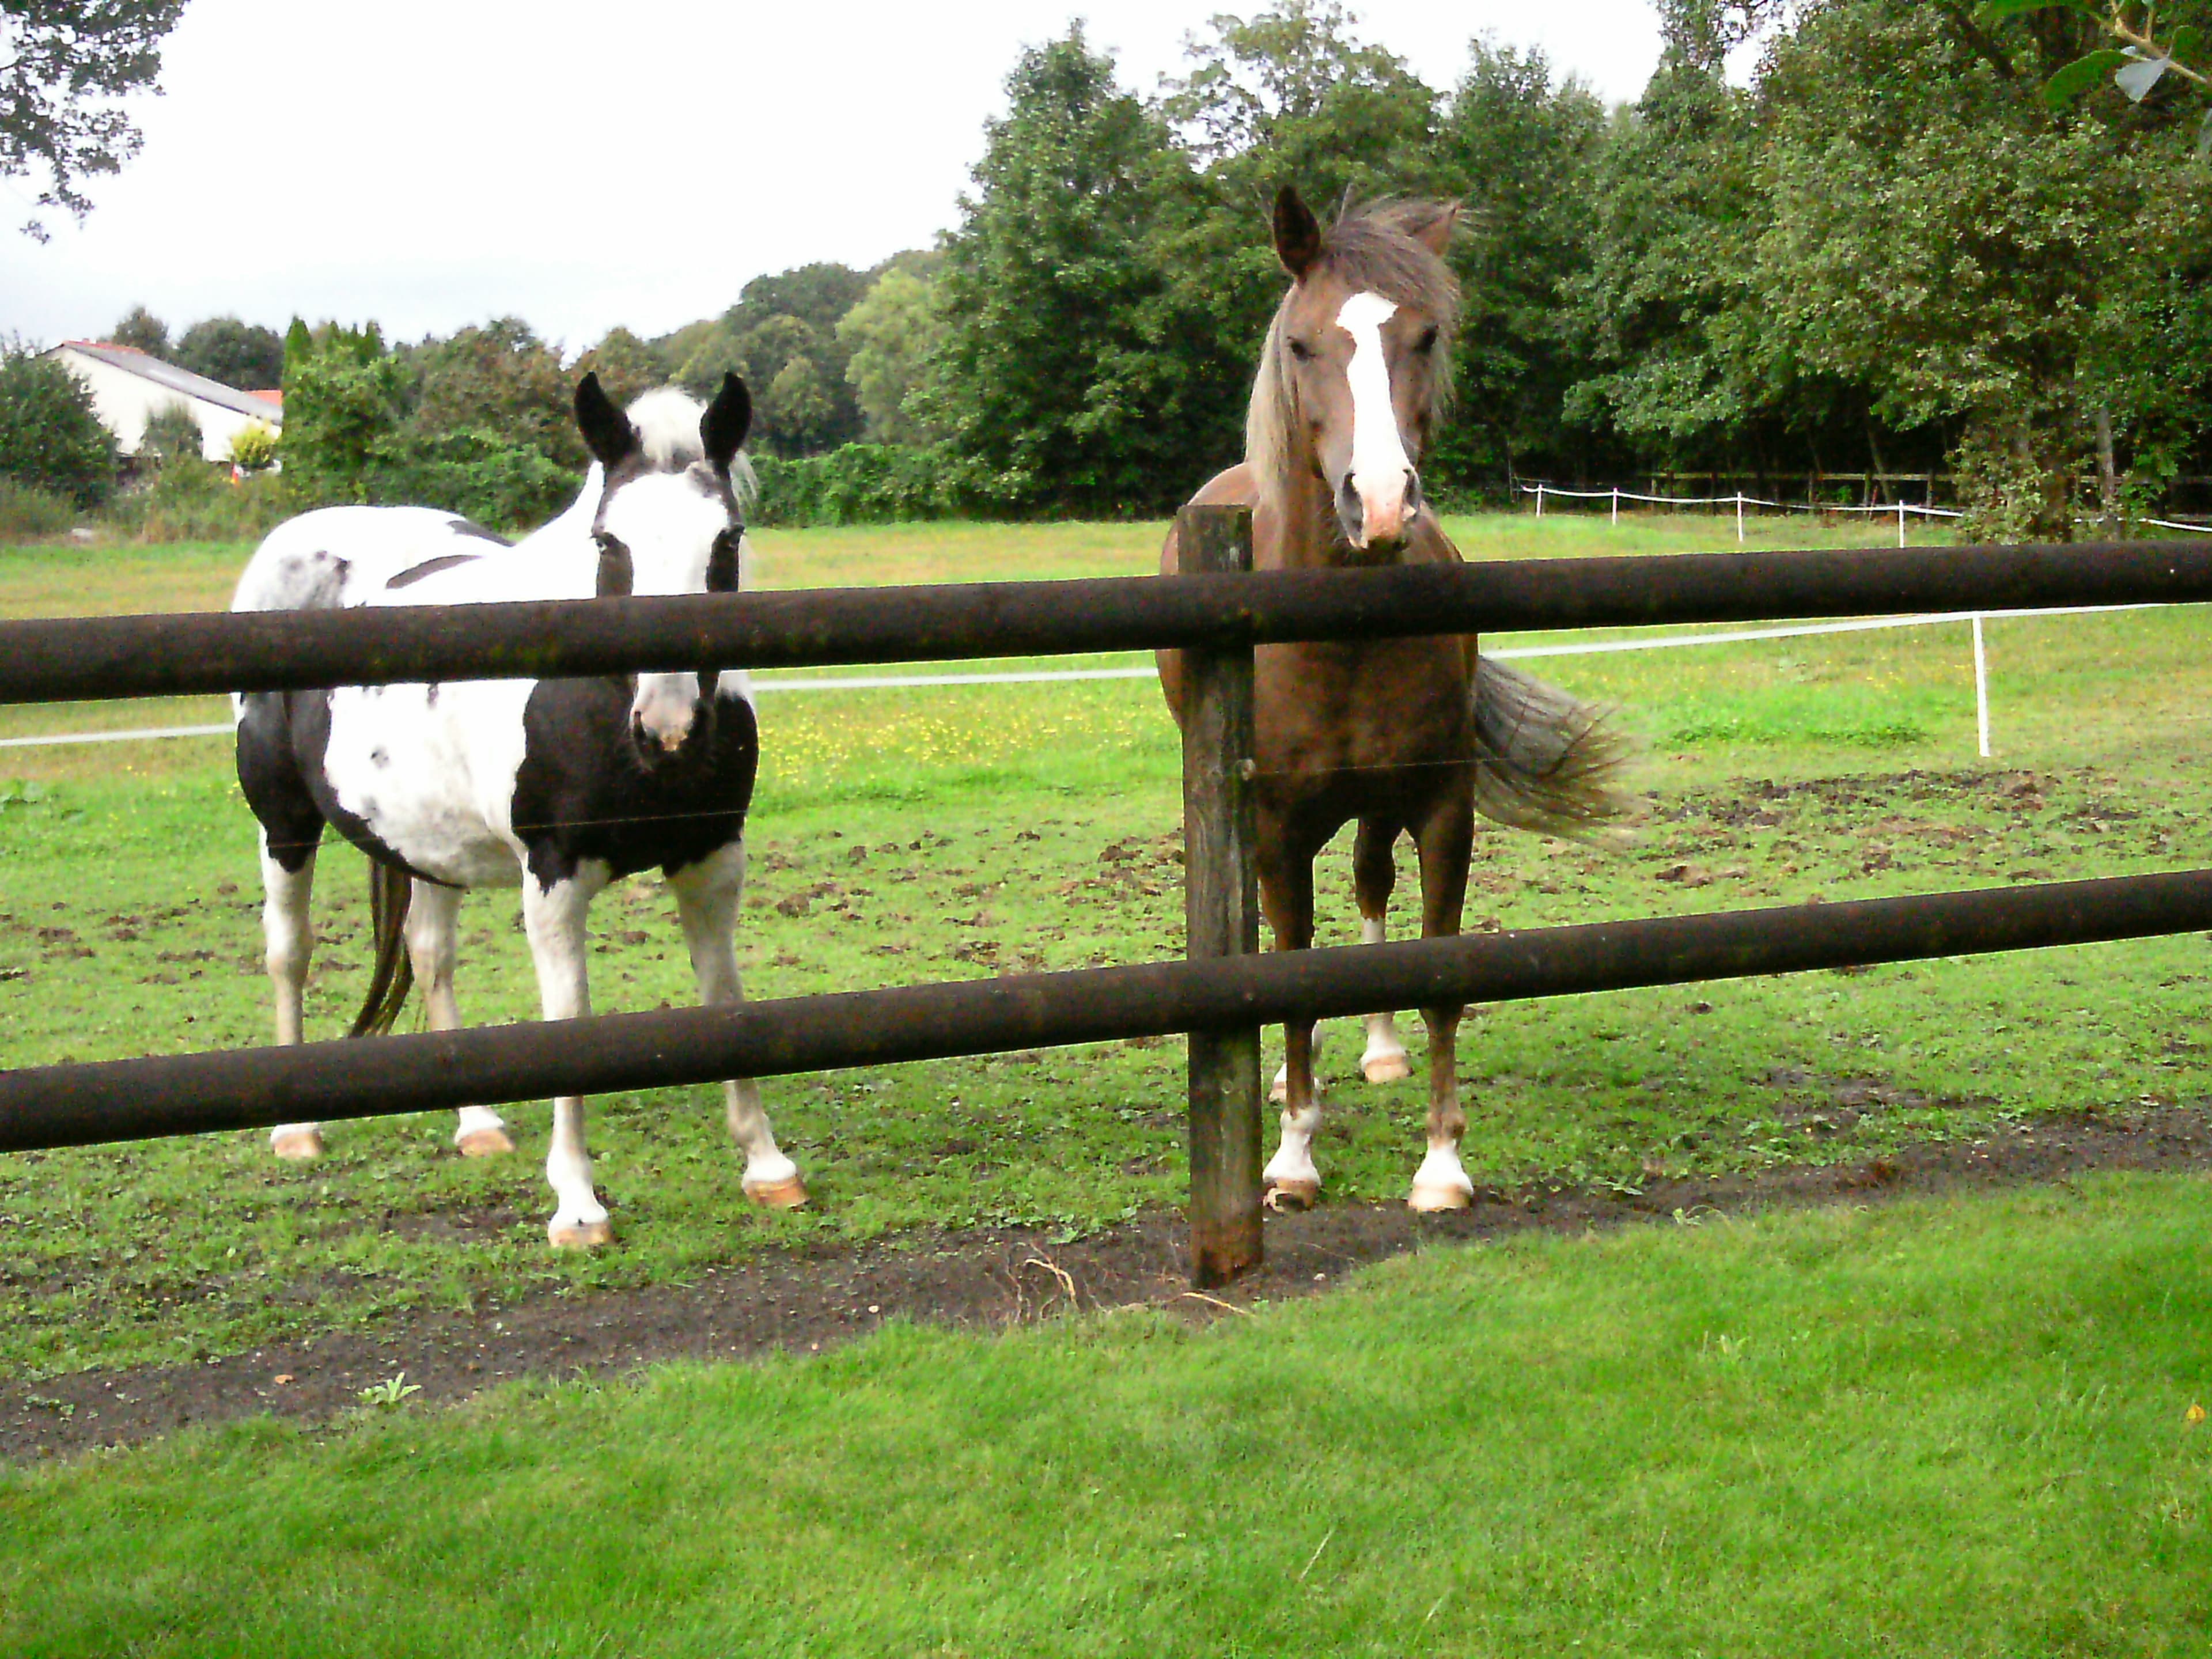
[[2194, 122], [2044, 97], [2088, 29], [2051, 13], [1997, 46], [1947, 7], [1829, 0], [1761, 77], [1763, 327], [1887, 420], [1958, 431], [1989, 535], [2073, 535], [2073, 480], [2099, 451], [2110, 476], [2115, 427], [2124, 442], [2143, 416], [2126, 365], [2143, 367], [2174, 261], [2203, 263], [2201, 188], [2194, 212], [2170, 188]]

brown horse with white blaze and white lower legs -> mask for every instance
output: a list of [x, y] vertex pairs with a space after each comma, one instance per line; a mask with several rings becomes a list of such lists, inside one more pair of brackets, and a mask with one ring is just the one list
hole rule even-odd
[[[1194, 502], [1252, 507], [1252, 564], [1305, 571], [1458, 564], [1416, 462], [1451, 392], [1460, 292], [1444, 250], [1458, 204], [1347, 208], [1323, 230], [1298, 192], [1274, 204], [1274, 248], [1292, 276], [1274, 314], [1245, 460]], [[1177, 568], [1175, 533], [1159, 560]], [[1358, 821], [1352, 878], [1360, 938], [1383, 916], [1400, 834], [1420, 854], [1420, 931], [1460, 931], [1475, 814], [1542, 834], [1586, 834], [1630, 812], [1617, 787], [1628, 745], [1604, 710], [1478, 657], [1473, 635], [1378, 644], [1261, 646], [1254, 653], [1261, 905], [1279, 951], [1314, 942], [1314, 856]], [[1159, 655], [1181, 717], [1181, 657]], [[1429, 1029], [1429, 1155], [1416, 1210], [1473, 1197], [1460, 1166], [1458, 1006], [1422, 1009]], [[1321, 1194], [1314, 1029], [1285, 1031], [1283, 1144], [1267, 1161], [1270, 1208]], [[1367, 1020], [1367, 1082], [1407, 1077], [1391, 1015]]]

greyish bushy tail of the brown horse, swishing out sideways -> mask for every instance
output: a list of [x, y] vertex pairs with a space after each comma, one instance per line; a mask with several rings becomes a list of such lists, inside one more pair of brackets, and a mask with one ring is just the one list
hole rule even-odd
[[1641, 816], [1644, 803], [1621, 787], [1637, 743], [1615, 712], [1478, 657], [1475, 810], [1513, 830], [1577, 841]]

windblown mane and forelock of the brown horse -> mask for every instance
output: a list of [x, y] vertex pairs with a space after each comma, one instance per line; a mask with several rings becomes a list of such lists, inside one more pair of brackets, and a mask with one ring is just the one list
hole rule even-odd
[[[1436, 409], [1451, 403], [1451, 341], [1460, 327], [1460, 279], [1451, 274], [1416, 230], [1433, 226], [1451, 212], [1449, 201], [1367, 201], [1336, 217], [1321, 239], [1321, 259], [1307, 270], [1307, 281], [1336, 276], [1347, 292], [1380, 294], [1394, 305], [1436, 321]], [[1261, 347], [1259, 376], [1252, 380], [1252, 407], [1245, 414], [1245, 465], [1259, 482], [1261, 498], [1272, 498], [1290, 476], [1290, 434], [1296, 409], [1290, 403], [1290, 374], [1283, 341], [1283, 314], [1290, 294], [1274, 310], [1267, 343]]]

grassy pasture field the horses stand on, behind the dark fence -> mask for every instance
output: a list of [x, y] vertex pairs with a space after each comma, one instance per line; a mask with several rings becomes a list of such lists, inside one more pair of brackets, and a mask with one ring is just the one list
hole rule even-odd
[[[1710, 522], [1498, 518], [1455, 531], [1493, 557], [1734, 544]], [[1093, 575], [1146, 568], [1157, 533], [812, 531], [763, 535], [761, 566], [779, 586]], [[1767, 544], [1807, 535], [1767, 526]], [[219, 604], [243, 555], [117, 549], [100, 566], [80, 549], [0, 553], [0, 613], [122, 608], [139, 571], [159, 606]], [[1989, 635], [1993, 763], [1973, 759], [1964, 628], [1535, 664], [1617, 699], [1646, 732], [1652, 816], [1619, 852], [1486, 832], [1469, 925], [2208, 863], [2201, 613], [2002, 622]], [[739, 931], [752, 995], [1179, 949], [1177, 741], [1152, 686], [763, 695], [761, 710]], [[82, 730], [93, 714], [24, 708], [0, 721]], [[221, 719], [221, 706], [184, 714]], [[146, 706], [97, 717], [173, 723]], [[11, 776], [0, 1064], [265, 1040], [252, 825], [226, 745], [0, 750]], [[1409, 860], [1402, 872], [1409, 894]], [[334, 1035], [358, 998], [361, 891], [358, 858], [332, 849], [312, 1033]], [[471, 900], [462, 927], [465, 1013], [531, 1018], [513, 900]], [[595, 938], [602, 1011], [692, 995], [657, 885], [611, 891]], [[1343, 843], [1323, 872], [1321, 938], [1356, 938]], [[1504, 1190], [1635, 1188], [2201, 1099], [2208, 971], [2205, 942], [2181, 938], [1484, 1009], [1462, 1029], [1467, 1161]], [[1418, 1053], [1418, 1020], [1405, 1024]], [[1422, 1082], [1367, 1088], [1354, 1060], [1347, 1022], [1323, 1055], [1325, 1175], [1334, 1201], [1391, 1201], [1418, 1161]], [[0, 1371], [239, 1354], [407, 1307], [679, 1283], [772, 1245], [918, 1225], [1077, 1234], [1177, 1203], [1183, 1188], [1177, 1042], [763, 1088], [814, 1210], [743, 1206], [714, 1091], [606, 1097], [593, 1146], [619, 1248], [588, 1261], [544, 1250], [542, 1106], [511, 1113], [522, 1155], [493, 1164], [451, 1157], [445, 1117], [338, 1126], [332, 1157], [305, 1170], [270, 1159], [261, 1135], [0, 1159]]]

